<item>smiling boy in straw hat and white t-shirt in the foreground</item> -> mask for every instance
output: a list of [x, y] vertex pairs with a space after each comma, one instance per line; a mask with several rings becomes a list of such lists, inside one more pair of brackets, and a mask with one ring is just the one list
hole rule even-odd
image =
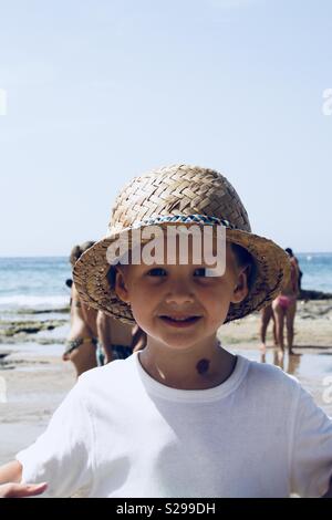
[[[177, 225], [212, 230], [204, 258], [195, 233], [187, 256], [178, 237], [174, 249]], [[156, 242], [152, 228], [163, 232]], [[331, 420], [280, 368], [234, 356], [217, 341], [220, 325], [271, 302], [289, 273], [286, 252], [251, 233], [220, 174], [178, 165], [135, 178], [116, 200], [108, 237], [75, 264], [74, 281], [85, 303], [135, 319], [146, 347], [81, 376], [0, 482], [45, 481], [51, 497], [329, 496]]]

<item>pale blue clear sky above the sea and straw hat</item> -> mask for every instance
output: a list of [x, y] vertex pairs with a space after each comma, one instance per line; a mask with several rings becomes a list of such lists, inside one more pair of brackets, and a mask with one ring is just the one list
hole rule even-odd
[[256, 233], [332, 251], [330, 0], [0, 0], [0, 13], [1, 257], [102, 238], [121, 187], [176, 163], [224, 174]]

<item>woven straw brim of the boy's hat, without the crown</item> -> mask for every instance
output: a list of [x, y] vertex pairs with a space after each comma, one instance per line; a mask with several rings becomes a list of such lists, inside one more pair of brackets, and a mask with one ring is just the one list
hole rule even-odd
[[[167, 223], [158, 226], [164, 228]], [[120, 300], [107, 278], [111, 266], [106, 251], [118, 236], [105, 238], [85, 251], [75, 263], [73, 278], [84, 303], [125, 323], [134, 324], [131, 306]], [[238, 304], [230, 303], [225, 323], [268, 305], [290, 278], [289, 257], [272, 240], [234, 229], [227, 229], [226, 237], [228, 241], [250, 252], [256, 263], [256, 278], [247, 298]]]

